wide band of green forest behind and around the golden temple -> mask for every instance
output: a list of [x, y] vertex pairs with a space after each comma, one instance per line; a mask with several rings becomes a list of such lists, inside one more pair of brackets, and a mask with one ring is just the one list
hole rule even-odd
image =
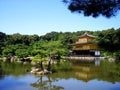
[[120, 28], [111, 28], [102, 31], [50, 32], [43, 36], [19, 33], [7, 35], [0, 32], [0, 57], [43, 58], [50, 54], [69, 55], [69, 44], [74, 43], [76, 36], [85, 32], [98, 36], [96, 42], [102, 48], [102, 55], [120, 56]]

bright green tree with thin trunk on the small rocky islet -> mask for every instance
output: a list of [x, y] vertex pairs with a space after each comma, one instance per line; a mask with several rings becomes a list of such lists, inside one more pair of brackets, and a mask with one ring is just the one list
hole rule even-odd
[[[68, 50], [64, 49], [63, 44], [61, 41], [43, 41], [40, 40], [33, 44], [33, 53], [34, 53], [34, 60], [38, 62], [46, 62], [48, 61], [47, 69], [51, 69], [51, 61], [54, 57], [58, 56], [60, 60], [61, 55], [65, 55], [68, 53]], [[47, 58], [46, 58], [47, 57]], [[36, 60], [35, 60], [36, 59]], [[41, 65], [41, 64], [40, 64]]]

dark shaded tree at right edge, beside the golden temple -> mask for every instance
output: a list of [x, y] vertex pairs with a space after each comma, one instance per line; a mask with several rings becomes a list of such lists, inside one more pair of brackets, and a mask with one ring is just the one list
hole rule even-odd
[[99, 33], [97, 38], [98, 45], [105, 51], [109, 52], [111, 55], [119, 55], [120, 51], [120, 29], [114, 30], [104, 30]]

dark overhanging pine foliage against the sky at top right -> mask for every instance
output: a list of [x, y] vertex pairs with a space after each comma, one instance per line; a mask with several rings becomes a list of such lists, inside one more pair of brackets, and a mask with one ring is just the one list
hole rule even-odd
[[72, 12], [83, 13], [84, 16], [115, 16], [120, 10], [120, 0], [63, 0]]

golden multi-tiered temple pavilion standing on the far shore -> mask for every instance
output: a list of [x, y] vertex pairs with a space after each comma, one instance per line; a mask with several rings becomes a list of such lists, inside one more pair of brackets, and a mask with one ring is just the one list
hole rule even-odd
[[71, 44], [74, 56], [100, 56], [98, 45], [95, 43], [96, 36], [84, 33], [77, 37], [77, 42]]

